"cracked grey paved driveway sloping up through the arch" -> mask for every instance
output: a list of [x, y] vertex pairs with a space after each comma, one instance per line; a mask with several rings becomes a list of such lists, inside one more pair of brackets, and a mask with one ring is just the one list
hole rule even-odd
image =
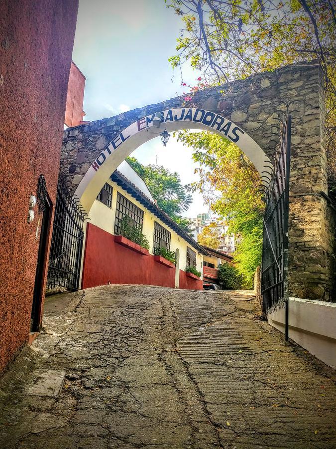
[[[46, 301], [0, 381], [2, 448], [335, 448], [335, 372], [251, 292], [104, 286]], [[28, 396], [66, 370], [58, 398]]]

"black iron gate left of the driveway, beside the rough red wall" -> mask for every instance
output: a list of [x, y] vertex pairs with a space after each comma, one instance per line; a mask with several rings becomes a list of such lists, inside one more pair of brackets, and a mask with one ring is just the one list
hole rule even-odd
[[60, 174], [49, 256], [47, 292], [78, 290], [87, 218], [73, 197], [65, 174]]

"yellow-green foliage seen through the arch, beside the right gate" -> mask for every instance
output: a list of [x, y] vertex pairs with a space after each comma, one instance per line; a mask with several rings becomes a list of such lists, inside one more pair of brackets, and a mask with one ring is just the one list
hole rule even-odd
[[196, 170], [200, 180], [190, 189], [201, 192], [210, 208], [225, 217], [228, 232], [241, 238], [234, 262], [242, 286], [250, 288], [262, 252], [264, 205], [258, 192], [259, 174], [238, 147], [221, 136], [185, 131], [179, 140], [193, 148], [193, 159], [200, 164]]

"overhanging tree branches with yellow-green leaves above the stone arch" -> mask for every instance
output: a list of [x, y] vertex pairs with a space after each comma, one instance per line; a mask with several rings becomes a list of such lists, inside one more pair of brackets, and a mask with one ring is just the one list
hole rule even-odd
[[[334, 0], [165, 0], [183, 28], [173, 68], [189, 61], [204, 79], [192, 90], [287, 64], [317, 60], [326, 91], [329, 180], [336, 185]], [[185, 84], [185, 83], [183, 83]]]

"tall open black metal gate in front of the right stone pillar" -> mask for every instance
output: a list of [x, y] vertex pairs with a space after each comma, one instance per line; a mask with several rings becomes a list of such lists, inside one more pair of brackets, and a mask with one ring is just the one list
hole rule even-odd
[[[287, 110], [288, 110], [288, 105]], [[280, 111], [278, 111], [280, 112]], [[282, 111], [281, 111], [282, 112]], [[285, 304], [288, 340], [288, 212], [291, 147], [291, 115], [285, 114], [274, 162], [267, 177], [266, 209], [263, 217], [261, 295], [263, 313]]]

